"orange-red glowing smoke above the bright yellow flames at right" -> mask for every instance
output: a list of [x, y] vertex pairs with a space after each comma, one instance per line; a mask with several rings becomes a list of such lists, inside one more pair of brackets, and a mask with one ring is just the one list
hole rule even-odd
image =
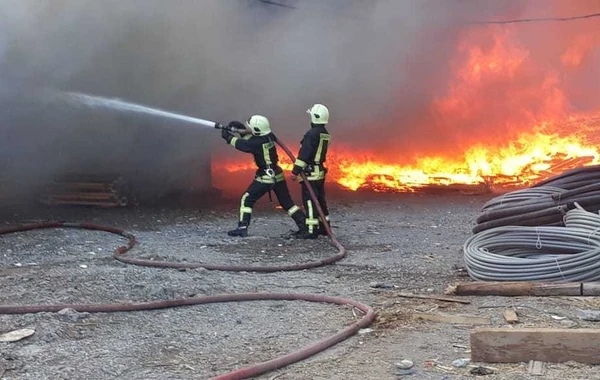
[[[597, 13], [594, 1], [529, 1], [502, 9], [491, 19], [529, 19]], [[511, 14], [512, 13], [512, 14]], [[485, 20], [478, 17], [479, 20]], [[396, 120], [408, 119], [404, 145], [407, 156], [441, 154], [458, 157], [474, 144], [498, 146], [520, 132], [535, 131], [547, 122], [565, 130], [571, 115], [600, 112], [600, 33], [597, 19], [573, 22], [531, 22], [469, 25], [451, 43], [443, 63], [444, 78], [425, 86], [429, 99]], [[446, 40], [445, 42], [448, 42]], [[443, 69], [442, 69], [443, 70]], [[436, 70], [432, 70], [435, 72]], [[421, 75], [415, 75], [416, 78]], [[400, 100], [402, 101], [402, 100]], [[393, 123], [393, 121], [392, 121]], [[415, 148], [416, 146], [416, 148]]]

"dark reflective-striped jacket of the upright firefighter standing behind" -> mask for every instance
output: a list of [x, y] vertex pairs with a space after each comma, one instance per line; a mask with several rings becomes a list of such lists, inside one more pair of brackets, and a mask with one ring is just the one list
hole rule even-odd
[[298, 175], [304, 171], [309, 181], [317, 181], [325, 178], [327, 169], [323, 166], [327, 159], [327, 149], [331, 135], [327, 132], [324, 124], [314, 124], [304, 134], [300, 144], [300, 152], [294, 163], [292, 174]]

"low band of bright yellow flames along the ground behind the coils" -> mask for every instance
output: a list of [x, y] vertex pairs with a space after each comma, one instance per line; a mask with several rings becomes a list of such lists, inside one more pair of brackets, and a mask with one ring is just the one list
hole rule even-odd
[[428, 185], [523, 187], [581, 165], [600, 163], [596, 147], [577, 136], [523, 133], [505, 146], [474, 145], [460, 158], [423, 157], [412, 165], [393, 159], [353, 158], [356, 153], [335, 151], [331, 170], [336, 182], [349, 190], [415, 191]]

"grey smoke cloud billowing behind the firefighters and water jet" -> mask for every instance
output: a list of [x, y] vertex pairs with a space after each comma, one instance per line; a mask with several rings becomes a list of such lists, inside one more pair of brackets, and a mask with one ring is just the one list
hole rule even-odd
[[[49, 104], [36, 95], [40, 88], [221, 122], [260, 113], [294, 148], [308, 127], [306, 109], [319, 102], [330, 108], [334, 143], [414, 154], [415, 147], [453, 136], [437, 133], [443, 121], [431, 104], [448, 88], [467, 23], [558, 9], [550, 1], [510, 0], [274, 2], [283, 6], [260, 0], [0, 1], [1, 176], [34, 188], [66, 172], [120, 172], [161, 195], [206, 187], [210, 154], [250, 160], [214, 131]], [[593, 1], [580, 4], [583, 11]], [[544, 33], [532, 31], [529, 42]], [[597, 68], [598, 54], [586, 64]], [[574, 87], [586, 81], [573, 78]], [[591, 107], [587, 95], [575, 103]]]

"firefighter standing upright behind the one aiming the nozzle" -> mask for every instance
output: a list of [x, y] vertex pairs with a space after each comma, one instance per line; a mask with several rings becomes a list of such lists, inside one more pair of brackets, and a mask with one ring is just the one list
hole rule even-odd
[[[301, 172], [305, 173], [325, 214], [325, 220], [328, 225], [331, 225], [329, 222], [329, 209], [325, 200], [325, 176], [327, 175], [327, 169], [324, 166], [327, 159], [329, 142], [331, 141], [331, 135], [325, 128], [329, 122], [329, 110], [323, 104], [315, 104], [306, 112], [310, 114], [311, 128], [304, 134], [300, 142], [302, 146], [294, 163], [291, 179], [295, 181]], [[301, 181], [301, 185], [302, 202], [304, 203], [306, 226], [308, 229], [307, 237], [315, 239], [319, 235], [327, 235], [325, 227], [319, 222], [319, 216], [310, 198], [306, 183]], [[303, 236], [299, 237], [302, 238]]]

